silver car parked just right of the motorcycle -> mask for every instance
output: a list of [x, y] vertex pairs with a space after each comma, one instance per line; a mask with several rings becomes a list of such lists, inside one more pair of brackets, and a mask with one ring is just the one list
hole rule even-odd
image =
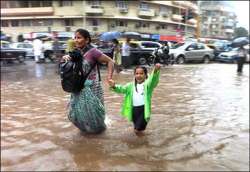
[[177, 64], [189, 61], [209, 63], [214, 59], [214, 50], [203, 43], [185, 42], [175, 44], [170, 49], [169, 55], [174, 56]]

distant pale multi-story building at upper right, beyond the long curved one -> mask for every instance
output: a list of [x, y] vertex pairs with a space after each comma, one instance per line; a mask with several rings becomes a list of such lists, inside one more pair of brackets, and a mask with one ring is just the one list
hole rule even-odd
[[232, 39], [237, 17], [224, 1], [200, 1], [201, 36]]

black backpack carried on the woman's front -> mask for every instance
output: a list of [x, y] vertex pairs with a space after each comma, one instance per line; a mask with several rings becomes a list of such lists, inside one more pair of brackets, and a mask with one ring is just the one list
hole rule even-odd
[[[84, 49], [84, 53], [92, 49], [93, 47], [87, 46]], [[93, 65], [88, 73], [83, 72], [82, 62], [85, 60], [79, 50], [73, 50], [69, 52], [71, 60], [60, 63], [60, 77], [62, 89], [69, 93], [79, 93], [83, 87], [84, 82], [88, 78], [88, 75], [92, 69], [96, 66]]]

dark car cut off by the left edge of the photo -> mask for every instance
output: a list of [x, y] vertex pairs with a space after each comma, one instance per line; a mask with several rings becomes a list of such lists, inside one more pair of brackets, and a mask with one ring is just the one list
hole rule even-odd
[[10, 43], [1, 41], [1, 61], [13, 61], [17, 60], [20, 63], [24, 62], [26, 51], [24, 49], [11, 48]]

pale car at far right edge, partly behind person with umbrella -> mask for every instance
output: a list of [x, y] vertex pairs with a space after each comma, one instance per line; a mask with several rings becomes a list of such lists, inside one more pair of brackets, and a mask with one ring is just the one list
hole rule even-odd
[[[246, 63], [249, 63], [249, 45], [245, 46], [244, 48], [248, 52], [246, 57]], [[237, 63], [238, 49], [239, 48], [233, 48], [231, 51], [220, 53], [216, 60], [219, 62]]]

